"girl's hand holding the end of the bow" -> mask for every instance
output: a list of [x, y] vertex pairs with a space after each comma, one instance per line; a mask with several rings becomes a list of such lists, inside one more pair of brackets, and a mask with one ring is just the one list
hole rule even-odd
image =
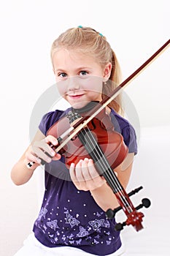
[[[52, 160], [58, 160], [61, 158], [60, 154], [57, 154], [53, 148], [49, 146], [49, 144], [53, 144], [53, 146], [58, 145], [58, 140], [53, 137], [52, 135], [48, 135], [43, 140], [36, 140], [29, 146], [28, 150], [26, 151], [26, 162], [35, 162], [34, 165], [38, 166], [41, 164], [41, 159], [45, 162], [51, 162]], [[50, 155], [47, 156], [47, 154]]]

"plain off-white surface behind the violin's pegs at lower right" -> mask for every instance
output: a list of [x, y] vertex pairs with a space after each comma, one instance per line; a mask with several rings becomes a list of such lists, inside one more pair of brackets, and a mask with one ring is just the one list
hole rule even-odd
[[170, 127], [142, 129], [139, 154], [134, 160], [128, 188], [144, 187], [131, 197], [135, 206], [143, 197], [150, 198], [152, 204], [140, 210], [145, 215], [143, 230], [136, 233], [133, 227], [126, 227], [122, 231], [125, 256], [170, 255], [169, 133]]

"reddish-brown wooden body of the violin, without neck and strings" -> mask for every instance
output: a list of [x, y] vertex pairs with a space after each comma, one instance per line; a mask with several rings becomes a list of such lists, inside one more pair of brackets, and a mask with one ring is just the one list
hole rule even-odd
[[[53, 135], [55, 138], [59, 138], [66, 129], [69, 129], [69, 127], [69, 118], [63, 117], [50, 127], [47, 131], [47, 135]], [[96, 118], [93, 118], [92, 121], [90, 121], [88, 129], [85, 128], [85, 142], [88, 142], [89, 140], [89, 129], [93, 134], [93, 138], [95, 138], [100, 146], [104, 156], [107, 157], [110, 167], [115, 169], [115, 167], [123, 162], [128, 154], [128, 147], [125, 146], [123, 136], [120, 135], [120, 133], [115, 132], [112, 121], [105, 110], [102, 110]], [[91, 148], [91, 150], [93, 151], [93, 148]], [[85, 159], [85, 157], [89, 158], [88, 151], [85, 149], [85, 146], [82, 145], [77, 135], [62, 148], [61, 152], [58, 153], [61, 153], [62, 156], [65, 157], [66, 167], [68, 168], [72, 162], [77, 164], [80, 159]]]

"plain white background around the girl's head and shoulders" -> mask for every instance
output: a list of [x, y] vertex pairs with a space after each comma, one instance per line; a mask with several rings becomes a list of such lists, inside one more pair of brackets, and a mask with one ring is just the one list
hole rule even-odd
[[[9, 172], [28, 146], [37, 99], [55, 83], [53, 40], [70, 27], [93, 27], [107, 37], [127, 78], [169, 39], [169, 10], [168, 0], [0, 1], [1, 255], [18, 249], [38, 211], [36, 178], [15, 187]], [[169, 127], [169, 72], [168, 49], [125, 89], [141, 128]]]

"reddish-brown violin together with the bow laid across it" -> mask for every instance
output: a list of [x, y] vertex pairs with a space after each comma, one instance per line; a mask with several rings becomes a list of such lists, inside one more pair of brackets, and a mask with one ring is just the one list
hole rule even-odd
[[[125, 225], [132, 225], [136, 231], [141, 230], [143, 228], [142, 219], [144, 214], [138, 210], [142, 207], [148, 208], [150, 206], [150, 200], [144, 198], [142, 204], [135, 208], [129, 197], [139, 192], [142, 187], [127, 194], [115, 175], [114, 169], [123, 162], [128, 154], [128, 148], [123, 142], [122, 135], [115, 132], [106, 113], [106, 107], [139, 72], [142, 72], [151, 61], [169, 46], [169, 42], [170, 40], [157, 50], [150, 59], [145, 61], [141, 67], [136, 69], [123, 83], [120, 83], [115, 91], [111, 95], [106, 96], [99, 104], [90, 102], [86, 109], [75, 110], [72, 108], [72, 111], [68, 113], [67, 117], [61, 118], [47, 132], [47, 135], [53, 135], [55, 138], [58, 138], [59, 145], [53, 146], [50, 144], [50, 147], [57, 153], [64, 155], [67, 167], [72, 162], [77, 163], [85, 157], [90, 156], [93, 159], [96, 170], [99, 175], [104, 176], [120, 204], [120, 207], [114, 210], [108, 209], [106, 212], [107, 217], [115, 217], [115, 214], [120, 209], [123, 209], [127, 217], [125, 222], [117, 223], [115, 230], [123, 230]], [[43, 164], [45, 162], [42, 160]], [[34, 162], [28, 163], [27, 166], [31, 167], [32, 165], [34, 165]]]

